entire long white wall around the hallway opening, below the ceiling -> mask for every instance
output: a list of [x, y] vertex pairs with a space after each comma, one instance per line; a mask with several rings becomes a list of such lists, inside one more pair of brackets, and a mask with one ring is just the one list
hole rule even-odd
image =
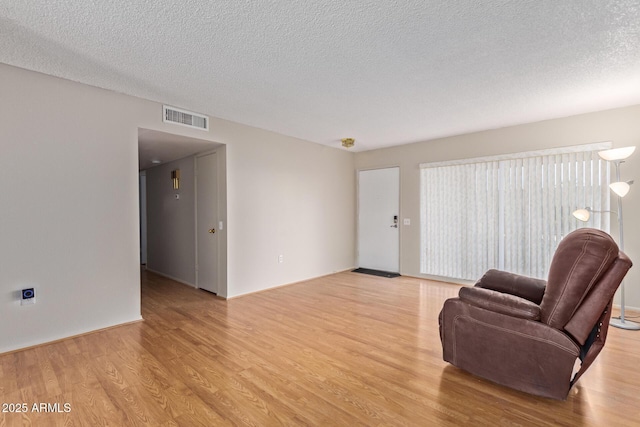
[[140, 319], [138, 128], [227, 145], [226, 295], [354, 265], [352, 153], [4, 64], [0, 94], [0, 352]]

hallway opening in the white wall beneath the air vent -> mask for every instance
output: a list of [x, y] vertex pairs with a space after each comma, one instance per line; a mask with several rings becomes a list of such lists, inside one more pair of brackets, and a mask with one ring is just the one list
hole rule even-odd
[[[199, 162], [204, 154], [213, 161]], [[227, 248], [226, 146], [138, 129], [138, 159], [140, 260], [144, 268], [226, 297], [226, 263], [222, 262]], [[208, 190], [198, 192], [199, 187]], [[208, 211], [203, 210], [209, 205]], [[207, 218], [202, 217], [205, 213]], [[206, 236], [208, 246], [198, 245], [206, 238], [199, 235], [198, 224], [205, 222], [210, 225], [207, 230], [215, 229], [215, 234]], [[199, 275], [201, 265], [207, 268], [204, 277]]]

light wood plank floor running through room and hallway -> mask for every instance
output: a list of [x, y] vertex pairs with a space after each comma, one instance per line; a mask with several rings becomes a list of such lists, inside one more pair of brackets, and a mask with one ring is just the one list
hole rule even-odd
[[340, 273], [224, 301], [143, 273], [144, 322], [0, 355], [0, 403], [29, 406], [0, 426], [640, 425], [640, 332], [610, 329], [566, 402], [531, 397], [442, 361], [457, 289]]

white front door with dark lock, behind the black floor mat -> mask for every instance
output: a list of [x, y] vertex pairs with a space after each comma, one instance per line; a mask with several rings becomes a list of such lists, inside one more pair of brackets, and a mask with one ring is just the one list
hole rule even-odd
[[358, 173], [358, 263], [361, 268], [398, 272], [400, 169]]

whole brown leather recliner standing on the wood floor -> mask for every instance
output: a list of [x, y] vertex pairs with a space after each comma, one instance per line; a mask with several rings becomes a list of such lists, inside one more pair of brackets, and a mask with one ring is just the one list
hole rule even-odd
[[546, 282], [489, 270], [445, 301], [444, 360], [516, 390], [566, 399], [604, 346], [613, 295], [631, 265], [611, 236], [582, 228], [560, 242]]

